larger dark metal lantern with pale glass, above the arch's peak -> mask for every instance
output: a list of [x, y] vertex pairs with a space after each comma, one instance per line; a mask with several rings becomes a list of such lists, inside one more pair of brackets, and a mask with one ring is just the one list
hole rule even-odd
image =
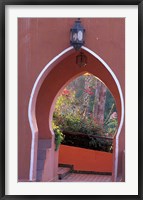
[[70, 30], [70, 44], [75, 48], [76, 51], [79, 50], [85, 43], [84, 33], [85, 29], [81, 25], [80, 18], [78, 18]]

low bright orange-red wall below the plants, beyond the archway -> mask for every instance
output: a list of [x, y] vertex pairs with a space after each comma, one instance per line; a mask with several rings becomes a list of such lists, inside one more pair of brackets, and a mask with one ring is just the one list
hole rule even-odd
[[61, 145], [59, 163], [74, 165], [74, 170], [112, 172], [112, 153]]

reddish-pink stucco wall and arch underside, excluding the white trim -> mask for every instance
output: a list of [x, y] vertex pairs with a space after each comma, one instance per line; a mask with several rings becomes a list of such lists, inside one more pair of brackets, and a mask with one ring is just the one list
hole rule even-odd
[[[69, 47], [69, 30], [73, 18], [19, 18], [18, 19], [18, 177], [27, 179], [30, 167], [31, 129], [28, 121], [28, 104], [33, 85], [44, 66], [61, 51]], [[96, 52], [114, 71], [125, 95], [125, 19], [85, 18], [85, 46]], [[91, 29], [92, 27], [92, 29]], [[57, 92], [69, 79], [82, 73], [75, 65], [72, 51], [60, 60], [40, 88], [36, 99], [36, 118], [39, 138], [51, 138], [49, 129], [50, 108]], [[120, 100], [116, 86], [108, 71], [90, 54], [84, 69], [101, 78], [113, 93], [120, 117]], [[108, 79], [107, 79], [108, 76]], [[125, 148], [124, 127], [119, 138], [119, 168], [122, 173], [122, 151]]]

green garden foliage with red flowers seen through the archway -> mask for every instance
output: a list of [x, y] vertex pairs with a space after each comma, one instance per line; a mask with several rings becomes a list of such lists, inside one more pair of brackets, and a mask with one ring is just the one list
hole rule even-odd
[[[113, 136], [117, 130], [117, 119], [110, 116], [116, 112], [114, 98], [110, 91], [106, 92], [106, 103], [104, 112], [104, 125], [99, 125], [94, 117], [94, 106], [96, 103], [96, 78], [93, 76], [89, 87], [85, 90], [85, 77], [80, 76], [72, 81], [58, 97], [53, 114], [53, 130], [55, 132], [56, 150], [59, 145], [67, 144], [80, 147], [90, 147], [103, 151], [112, 152], [112, 141], [99, 139], [93, 136]], [[89, 94], [89, 105], [84, 107], [84, 94]], [[85, 114], [86, 113], [86, 114]], [[82, 133], [88, 137], [74, 137], [63, 133]]]

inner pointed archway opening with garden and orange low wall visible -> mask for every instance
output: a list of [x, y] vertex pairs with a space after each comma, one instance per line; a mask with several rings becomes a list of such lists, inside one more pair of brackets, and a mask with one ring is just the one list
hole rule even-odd
[[[90, 173], [108, 174], [111, 180], [118, 119], [116, 102], [106, 85], [92, 74], [80, 74], [61, 91], [54, 107], [59, 178], [66, 181], [76, 173]], [[97, 181], [96, 176], [92, 180]]]

